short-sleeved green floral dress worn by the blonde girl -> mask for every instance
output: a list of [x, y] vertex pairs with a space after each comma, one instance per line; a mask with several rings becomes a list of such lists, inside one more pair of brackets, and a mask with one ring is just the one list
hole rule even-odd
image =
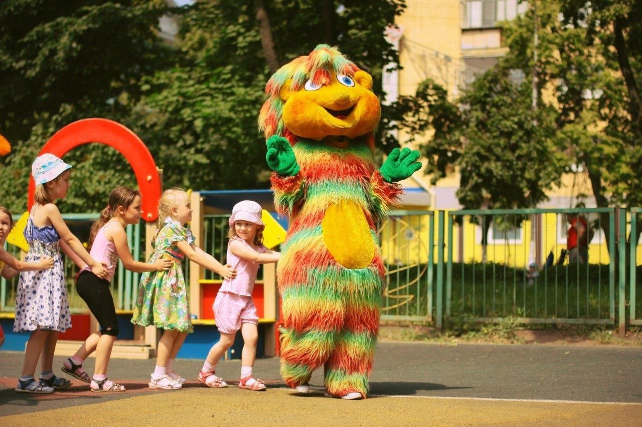
[[180, 265], [185, 255], [176, 247], [176, 243], [182, 240], [189, 244], [194, 243], [194, 238], [187, 228], [166, 218], [165, 226], [152, 244], [154, 251], [147, 262], [168, 258], [173, 260], [174, 264], [168, 271], [143, 273], [132, 317], [133, 324], [153, 324], [157, 328], [179, 332], [194, 331], [189, 317], [187, 287]]

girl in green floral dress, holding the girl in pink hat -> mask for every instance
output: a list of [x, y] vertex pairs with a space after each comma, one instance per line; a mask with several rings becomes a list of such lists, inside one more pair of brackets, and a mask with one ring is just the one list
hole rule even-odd
[[187, 303], [187, 289], [181, 262], [190, 261], [220, 274], [223, 278], [236, 276], [229, 265], [222, 265], [213, 256], [194, 244], [194, 238], [185, 224], [192, 219], [187, 193], [171, 188], [161, 194], [157, 234], [153, 253], [147, 262], [159, 258], [173, 260], [168, 271], [145, 272], [141, 277], [132, 323], [162, 328], [157, 351], [156, 367], [149, 383], [150, 389], [180, 389], [185, 378], [173, 371], [173, 360], [187, 333], [193, 331]]

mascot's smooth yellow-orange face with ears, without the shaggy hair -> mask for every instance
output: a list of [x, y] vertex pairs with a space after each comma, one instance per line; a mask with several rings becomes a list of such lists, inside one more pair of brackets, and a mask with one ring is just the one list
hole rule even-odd
[[321, 140], [326, 136], [356, 138], [374, 130], [379, 122], [379, 99], [372, 93], [372, 77], [365, 71], [354, 75], [330, 72], [329, 83], [309, 79], [303, 88], [284, 85], [283, 121], [302, 138]]

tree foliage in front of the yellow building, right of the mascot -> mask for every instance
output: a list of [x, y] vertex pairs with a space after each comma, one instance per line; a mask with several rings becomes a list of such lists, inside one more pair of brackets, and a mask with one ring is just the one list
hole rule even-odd
[[[532, 8], [505, 23], [507, 55], [460, 99], [449, 102], [431, 81], [402, 99], [403, 125], [434, 132], [426, 172], [436, 181], [458, 167], [467, 208], [535, 206], [577, 169], [587, 171], [598, 206], [640, 206], [640, 17], [634, 0], [538, 1], [537, 63]], [[534, 71], [535, 112], [530, 83], [516, 79]]]

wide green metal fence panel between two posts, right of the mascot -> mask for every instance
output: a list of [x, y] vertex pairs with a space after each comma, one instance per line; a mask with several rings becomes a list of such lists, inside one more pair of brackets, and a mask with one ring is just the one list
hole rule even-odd
[[[447, 216], [447, 316], [614, 324], [613, 208], [460, 210]], [[586, 251], [564, 256], [567, 229], [582, 221]]]

